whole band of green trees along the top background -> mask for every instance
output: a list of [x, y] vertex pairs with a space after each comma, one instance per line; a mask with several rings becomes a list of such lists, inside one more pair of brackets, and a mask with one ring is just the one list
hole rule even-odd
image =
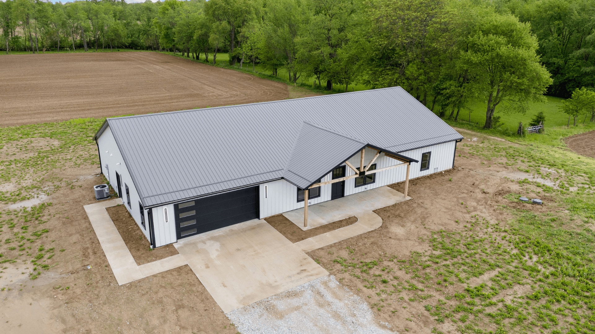
[[0, 2], [1, 48], [129, 48], [260, 64], [321, 89], [402, 86], [459, 118], [470, 99], [524, 112], [595, 84], [595, 0]]

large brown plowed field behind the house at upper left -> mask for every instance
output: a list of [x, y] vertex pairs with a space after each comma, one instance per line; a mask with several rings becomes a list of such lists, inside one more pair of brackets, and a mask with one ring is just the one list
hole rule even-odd
[[288, 86], [156, 52], [0, 56], [0, 127], [282, 100]]

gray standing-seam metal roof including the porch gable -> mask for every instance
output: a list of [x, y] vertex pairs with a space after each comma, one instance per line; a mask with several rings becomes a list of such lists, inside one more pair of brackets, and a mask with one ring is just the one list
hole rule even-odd
[[278, 178], [305, 187], [366, 145], [394, 153], [456, 133], [401, 87], [108, 118], [143, 206]]

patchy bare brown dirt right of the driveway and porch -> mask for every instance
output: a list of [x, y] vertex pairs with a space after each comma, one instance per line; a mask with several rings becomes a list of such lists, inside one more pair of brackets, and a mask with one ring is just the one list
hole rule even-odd
[[[479, 144], [482, 140], [489, 140], [481, 134], [468, 131], [459, 131], [468, 138], [478, 138], [477, 141], [467, 141], [468, 144]], [[461, 144], [457, 147], [457, 153], [465, 151]], [[439, 300], [449, 293], [450, 289], [435, 291], [433, 288], [425, 288], [425, 294], [432, 297], [425, 301], [419, 300], [419, 292], [406, 291], [395, 293], [387, 298], [378, 296], [365, 287], [366, 281], [355, 278], [345, 272], [343, 267], [334, 262], [337, 257], [356, 259], [362, 261], [374, 261], [377, 259], [398, 259], [411, 258], [412, 252], [428, 253], [428, 238], [430, 231], [444, 229], [448, 232], [462, 232], [465, 230], [464, 222], [472, 215], [486, 217], [490, 221], [506, 221], [509, 214], [499, 207], [521, 207], [536, 213], [545, 213], [555, 210], [556, 203], [553, 198], [528, 191], [522, 188], [518, 182], [504, 178], [509, 171], [508, 166], [497, 166], [494, 160], [488, 162], [480, 157], [456, 157], [455, 168], [443, 173], [428, 175], [413, 179], [409, 183], [409, 196], [411, 200], [397, 203], [392, 206], [374, 210], [383, 219], [383, 225], [374, 231], [358, 235], [347, 240], [328, 245], [308, 253], [312, 259], [320, 261], [321, 266], [335, 275], [337, 280], [347, 286], [354, 294], [359, 295], [371, 305], [377, 320], [391, 324], [392, 329], [397, 332], [405, 332], [405, 329], [413, 333], [429, 333], [433, 327], [444, 333], [457, 333], [458, 330], [447, 324], [440, 325], [434, 321], [424, 309], [424, 304], [436, 305]], [[490, 165], [491, 164], [491, 165]], [[452, 181], [449, 179], [452, 178]], [[403, 192], [403, 182], [390, 185], [397, 191]], [[538, 197], [544, 200], [542, 206], [525, 203], [516, 203], [503, 198], [510, 193], [524, 194], [529, 198]], [[464, 204], [461, 204], [464, 203]], [[457, 220], [460, 221], [457, 222]], [[349, 248], [347, 248], [349, 247]], [[398, 264], [394, 262], [381, 262], [385, 266], [383, 277], [388, 278], [390, 283], [384, 286], [385, 289], [392, 289], [392, 283], [402, 282], [406, 278], [405, 273], [399, 270]], [[405, 266], [405, 265], [403, 265]], [[486, 281], [493, 273], [486, 273], [477, 282]], [[362, 274], [363, 276], [363, 274]], [[501, 292], [502, 298], [512, 298], [512, 295], [522, 294], [521, 289], [527, 286], [515, 286], [514, 289]], [[418, 300], [409, 301], [409, 298]], [[497, 297], [500, 298], [500, 297]], [[449, 300], [447, 304], [456, 304], [456, 300]], [[378, 309], [377, 309], [378, 308]]]

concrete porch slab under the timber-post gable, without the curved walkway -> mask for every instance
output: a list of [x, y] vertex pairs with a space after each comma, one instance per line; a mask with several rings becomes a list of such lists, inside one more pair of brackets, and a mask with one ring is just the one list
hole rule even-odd
[[358, 216], [358, 213], [371, 212], [410, 199], [411, 197], [405, 197], [399, 191], [385, 186], [308, 206], [308, 227], [306, 228], [303, 227], [303, 207], [283, 213], [283, 216], [295, 223], [302, 231], [306, 231], [337, 220]]

